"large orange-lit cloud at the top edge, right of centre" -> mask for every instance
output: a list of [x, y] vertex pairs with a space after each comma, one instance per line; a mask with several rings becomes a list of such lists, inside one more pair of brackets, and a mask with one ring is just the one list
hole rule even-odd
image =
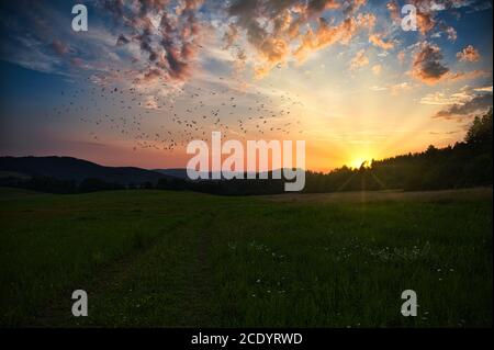
[[[347, 45], [359, 30], [375, 24], [371, 13], [357, 13], [366, 0], [235, 0], [226, 7], [229, 23], [225, 48], [242, 35], [257, 57], [257, 77], [295, 59], [303, 63], [312, 53], [336, 43]], [[339, 23], [326, 20], [326, 11], [340, 11]], [[245, 54], [246, 52], [244, 52]]]

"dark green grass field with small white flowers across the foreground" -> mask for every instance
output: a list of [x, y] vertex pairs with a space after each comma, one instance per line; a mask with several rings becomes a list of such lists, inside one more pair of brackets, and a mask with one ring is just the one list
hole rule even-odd
[[[492, 204], [0, 189], [0, 326], [492, 326]], [[77, 289], [89, 317], [71, 316]]]

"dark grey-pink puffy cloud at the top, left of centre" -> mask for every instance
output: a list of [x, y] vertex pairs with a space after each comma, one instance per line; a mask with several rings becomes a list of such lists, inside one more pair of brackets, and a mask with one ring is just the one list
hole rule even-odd
[[146, 57], [139, 61], [145, 67], [137, 72], [144, 82], [158, 77], [183, 81], [191, 76], [200, 47], [201, 5], [202, 0], [111, 0], [104, 9], [114, 18], [114, 31], [120, 32], [116, 45], [136, 43]]

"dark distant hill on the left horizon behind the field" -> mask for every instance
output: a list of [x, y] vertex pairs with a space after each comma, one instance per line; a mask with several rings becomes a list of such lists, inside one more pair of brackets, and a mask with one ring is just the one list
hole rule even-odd
[[71, 157], [0, 157], [0, 171], [20, 173], [27, 177], [49, 177], [59, 180], [99, 179], [121, 185], [156, 184], [166, 178], [151, 170], [134, 167], [104, 167], [94, 162]]

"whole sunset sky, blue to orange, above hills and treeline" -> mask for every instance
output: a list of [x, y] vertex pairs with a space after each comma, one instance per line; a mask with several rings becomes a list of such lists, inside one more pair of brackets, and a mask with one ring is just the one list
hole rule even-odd
[[305, 140], [329, 171], [453, 145], [493, 103], [492, 18], [485, 0], [2, 1], [0, 155], [184, 168], [220, 131]]

